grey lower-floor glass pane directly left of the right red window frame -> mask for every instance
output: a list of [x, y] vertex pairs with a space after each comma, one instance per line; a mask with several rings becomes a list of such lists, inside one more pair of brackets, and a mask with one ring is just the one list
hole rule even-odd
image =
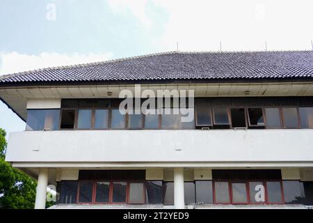
[[213, 203], [213, 189], [211, 180], [195, 181], [196, 202]]

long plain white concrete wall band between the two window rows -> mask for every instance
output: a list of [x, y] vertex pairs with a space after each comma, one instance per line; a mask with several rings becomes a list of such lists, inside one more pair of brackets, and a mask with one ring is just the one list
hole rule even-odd
[[313, 130], [60, 130], [10, 134], [9, 162], [313, 162]]

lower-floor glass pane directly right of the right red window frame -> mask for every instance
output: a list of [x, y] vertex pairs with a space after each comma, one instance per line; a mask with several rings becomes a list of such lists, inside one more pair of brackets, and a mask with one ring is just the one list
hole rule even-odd
[[282, 181], [285, 203], [305, 203], [303, 183], [298, 180]]

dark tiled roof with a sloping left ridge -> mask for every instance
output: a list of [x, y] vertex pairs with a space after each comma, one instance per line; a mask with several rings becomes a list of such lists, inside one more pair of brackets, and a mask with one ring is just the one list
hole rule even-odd
[[45, 68], [1, 77], [1, 84], [313, 77], [313, 51], [166, 52]]

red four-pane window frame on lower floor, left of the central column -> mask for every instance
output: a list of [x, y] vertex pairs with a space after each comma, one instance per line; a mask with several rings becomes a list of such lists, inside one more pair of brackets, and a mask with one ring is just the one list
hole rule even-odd
[[[91, 202], [79, 202], [79, 192], [80, 192], [80, 186], [81, 182], [92, 182], [92, 196], [91, 196]], [[109, 182], [109, 202], [96, 202], [96, 196], [97, 196], [97, 182]], [[113, 202], [113, 183], [126, 183], [126, 199], [125, 202]], [[77, 187], [77, 203], [78, 204], [128, 204], [129, 203], [129, 189], [130, 189], [130, 183], [143, 183], [143, 201], [142, 203], [133, 203], [130, 204], [143, 204], [145, 203], [145, 182], [142, 180], [79, 180], [78, 187]]]

